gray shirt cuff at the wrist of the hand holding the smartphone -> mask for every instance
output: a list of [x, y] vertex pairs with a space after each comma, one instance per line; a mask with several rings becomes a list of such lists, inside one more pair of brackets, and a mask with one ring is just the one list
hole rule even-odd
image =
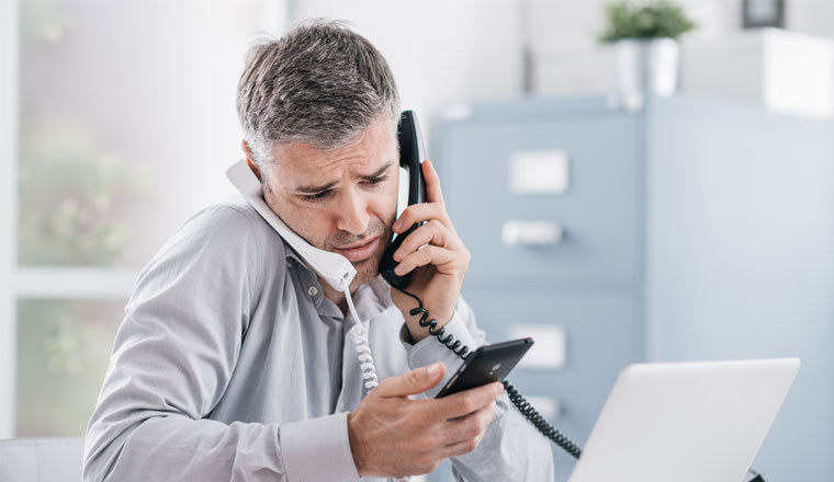
[[288, 480], [359, 480], [350, 452], [347, 412], [281, 425], [279, 439]]

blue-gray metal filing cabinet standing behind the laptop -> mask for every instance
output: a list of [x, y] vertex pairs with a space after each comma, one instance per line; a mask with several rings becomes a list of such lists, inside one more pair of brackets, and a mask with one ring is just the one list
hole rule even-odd
[[677, 95], [457, 105], [437, 126], [463, 295], [489, 341], [546, 347], [509, 379], [556, 426], [584, 445], [632, 362], [797, 356], [753, 467], [834, 473], [834, 123]]

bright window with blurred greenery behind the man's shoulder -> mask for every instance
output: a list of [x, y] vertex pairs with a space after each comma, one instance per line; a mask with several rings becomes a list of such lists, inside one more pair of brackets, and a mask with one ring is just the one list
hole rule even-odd
[[0, 2], [0, 438], [80, 436], [140, 267], [232, 190], [279, 0]]

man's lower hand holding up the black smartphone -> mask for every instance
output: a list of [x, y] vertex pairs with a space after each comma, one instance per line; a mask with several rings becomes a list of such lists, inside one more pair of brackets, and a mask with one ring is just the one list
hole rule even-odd
[[360, 475], [431, 472], [447, 457], [469, 454], [484, 437], [504, 386], [493, 382], [442, 399], [410, 400], [435, 387], [442, 363], [383, 380], [348, 415], [350, 451]]

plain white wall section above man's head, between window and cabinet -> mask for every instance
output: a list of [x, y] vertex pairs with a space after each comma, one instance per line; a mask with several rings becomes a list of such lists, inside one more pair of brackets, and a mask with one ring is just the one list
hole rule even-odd
[[[313, 0], [290, 19], [348, 20], [391, 64], [403, 106], [433, 113], [453, 100], [511, 97], [521, 90], [521, 49], [512, 0]], [[421, 115], [430, 131], [430, 114]]]

